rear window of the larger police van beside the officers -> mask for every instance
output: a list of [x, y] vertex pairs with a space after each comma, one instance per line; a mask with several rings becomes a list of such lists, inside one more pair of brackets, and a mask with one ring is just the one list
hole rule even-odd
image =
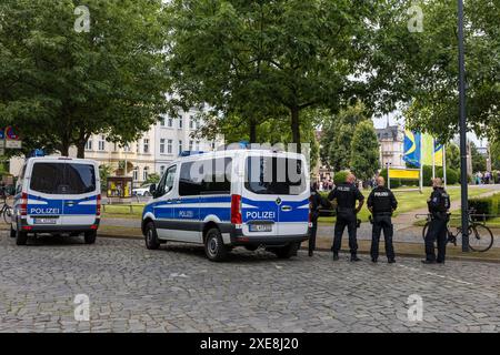
[[277, 156], [247, 158], [244, 187], [257, 194], [298, 195], [306, 191], [301, 160]]

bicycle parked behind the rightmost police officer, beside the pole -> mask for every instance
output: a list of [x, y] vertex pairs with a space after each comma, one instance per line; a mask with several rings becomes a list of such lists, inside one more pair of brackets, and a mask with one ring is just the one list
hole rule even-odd
[[[477, 222], [472, 219], [474, 215], [474, 210], [470, 210], [468, 213], [469, 217], [469, 247], [471, 251], [474, 252], [487, 252], [493, 246], [493, 233], [491, 233], [491, 230], [486, 225], [486, 216], [483, 216], [482, 222]], [[427, 231], [429, 230], [429, 224], [431, 222], [431, 214], [427, 215], [427, 223], [423, 226], [422, 230], [422, 237], [426, 240]], [[453, 232], [450, 231], [449, 222], [447, 225], [447, 244], [451, 243], [454, 246], [458, 244], [458, 240], [461, 239], [462, 235], [462, 227], [457, 227], [457, 233], [453, 234]], [[437, 247], [436, 241], [434, 241], [434, 247]]]

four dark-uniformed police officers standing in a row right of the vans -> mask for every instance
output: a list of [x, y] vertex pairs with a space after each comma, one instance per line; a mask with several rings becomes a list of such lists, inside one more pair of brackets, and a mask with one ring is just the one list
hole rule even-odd
[[[392, 243], [393, 225], [392, 213], [398, 207], [398, 201], [392, 191], [386, 187], [386, 181], [382, 176], [376, 180], [377, 186], [368, 196], [367, 206], [371, 213], [370, 222], [372, 223], [372, 239], [370, 255], [371, 261], [377, 263], [379, 260], [379, 242], [383, 231], [386, 242], [386, 256], [388, 263], [396, 262], [396, 253]], [[441, 179], [432, 181], [433, 191], [427, 201], [429, 213], [431, 214], [431, 223], [426, 235], [426, 260], [424, 264], [444, 263], [446, 245], [447, 245], [447, 224], [449, 221], [450, 197], [442, 187]], [[337, 221], [333, 232], [333, 243], [331, 251], [333, 252], [333, 261], [339, 260], [339, 251], [342, 244], [342, 234], [348, 229], [350, 261], [359, 262], [358, 257], [358, 240], [357, 230], [360, 225], [358, 213], [364, 204], [364, 196], [356, 185], [356, 176], [348, 174], [346, 181], [338, 184], [328, 195], [328, 201], [321, 197], [314, 184], [311, 187], [311, 235], [309, 240], [309, 256], [313, 255], [316, 248], [316, 234], [318, 230], [319, 210], [321, 206], [331, 204], [336, 210]], [[438, 245], [438, 255], [436, 255], [434, 242]]]

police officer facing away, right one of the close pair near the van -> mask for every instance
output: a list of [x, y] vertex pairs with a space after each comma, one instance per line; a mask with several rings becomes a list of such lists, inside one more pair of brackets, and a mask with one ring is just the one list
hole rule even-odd
[[380, 233], [383, 230], [386, 240], [386, 255], [389, 264], [394, 263], [394, 247], [392, 246], [392, 212], [398, 207], [398, 201], [392, 191], [386, 187], [386, 180], [382, 176], [377, 178], [377, 187], [368, 196], [368, 210], [373, 215], [373, 229], [371, 233], [371, 261], [377, 263], [379, 258]]

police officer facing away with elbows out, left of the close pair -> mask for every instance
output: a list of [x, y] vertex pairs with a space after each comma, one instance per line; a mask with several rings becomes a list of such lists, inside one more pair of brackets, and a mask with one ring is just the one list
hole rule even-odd
[[[359, 262], [358, 241], [356, 239], [357, 217], [364, 203], [364, 196], [354, 185], [356, 176], [349, 173], [346, 182], [337, 185], [328, 195], [328, 200], [337, 210], [337, 222], [333, 233], [333, 261], [339, 260], [339, 251], [342, 244], [342, 234], [346, 226], [349, 233], [349, 248], [351, 252], [351, 262]], [[356, 206], [356, 201], [359, 201]]]

